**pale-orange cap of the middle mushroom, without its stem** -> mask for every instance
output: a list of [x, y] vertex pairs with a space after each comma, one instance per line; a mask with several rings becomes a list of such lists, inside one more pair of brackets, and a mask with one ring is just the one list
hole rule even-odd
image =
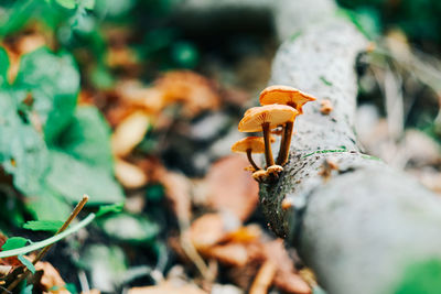
[[245, 112], [238, 129], [239, 132], [259, 132], [265, 122], [269, 122], [270, 128], [275, 128], [288, 121], [293, 121], [298, 113], [298, 110], [284, 105], [254, 107], [252, 110]]

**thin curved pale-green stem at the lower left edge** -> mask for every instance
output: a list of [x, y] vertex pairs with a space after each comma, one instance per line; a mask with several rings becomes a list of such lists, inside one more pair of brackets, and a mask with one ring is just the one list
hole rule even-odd
[[[83, 219], [80, 222], [76, 224], [75, 226], [68, 228], [67, 230], [55, 235], [51, 238], [47, 238], [43, 241], [40, 242], [33, 242], [32, 244], [22, 247], [22, 248], [17, 248], [17, 249], [12, 249], [12, 250], [8, 250], [8, 251], [1, 251], [0, 252], [0, 259], [3, 258], [10, 258], [10, 257], [17, 257], [20, 254], [26, 254], [29, 252], [39, 250], [43, 247], [46, 247], [49, 244], [53, 244], [60, 240], [62, 240], [63, 238], [66, 238], [67, 236], [80, 230], [82, 228], [86, 227], [87, 225], [89, 225], [94, 219], [95, 219], [95, 214], [90, 214], [88, 215], [85, 219]], [[11, 238], [12, 239], [12, 238]]]

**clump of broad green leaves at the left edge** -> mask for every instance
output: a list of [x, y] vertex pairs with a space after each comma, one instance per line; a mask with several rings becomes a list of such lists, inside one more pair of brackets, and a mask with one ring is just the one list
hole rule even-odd
[[93, 204], [123, 199], [109, 127], [95, 107], [76, 108], [78, 90], [72, 55], [45, 47], [24, 55], [14, 83], [0, 88], [0, 163], [39, 219], [64, 220], [86, 193]]

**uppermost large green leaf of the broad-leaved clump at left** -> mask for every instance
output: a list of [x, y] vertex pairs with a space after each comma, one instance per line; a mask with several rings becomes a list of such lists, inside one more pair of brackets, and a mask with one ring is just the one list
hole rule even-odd
[[45, 141], [52, 143], [74, 115], [79, 90], [74, 58], [68, 53], [56, 55], [46, 47], [25, 54], [14, 87], [31, 92], [30, 111], [36, 112], [43, 123]]

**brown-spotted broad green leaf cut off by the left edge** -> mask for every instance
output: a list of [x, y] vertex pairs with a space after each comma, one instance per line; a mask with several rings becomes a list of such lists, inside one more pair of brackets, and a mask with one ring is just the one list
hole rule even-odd
[[0, 164], [24, 195], [41, 190], [49, 154], [41, 135], [18, 115], [17, 91], [0, 91]]

